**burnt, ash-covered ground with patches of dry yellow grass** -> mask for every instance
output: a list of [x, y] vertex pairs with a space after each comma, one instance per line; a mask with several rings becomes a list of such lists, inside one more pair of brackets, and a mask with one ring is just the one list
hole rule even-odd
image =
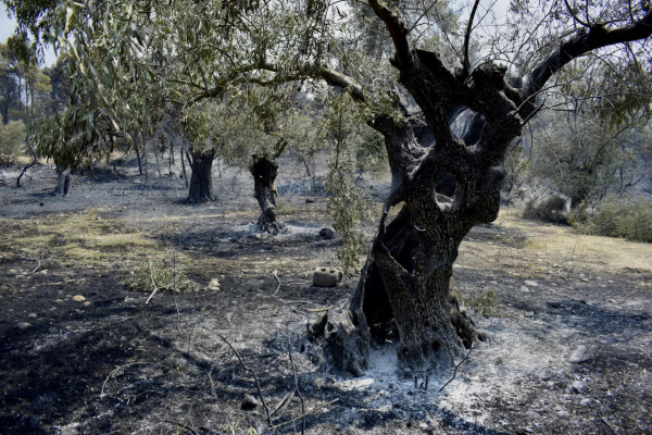
[[[306, 324], [358, 276], [311, 286], [315, 266], [337, 265], [338, 239], [318, 236], [326, 198], [304, 189], [297, 162], [281, 162], [277, 237], [252, 225], [247, 172], [216, 169], [218, 200], [203, 206], [133, 163], [76, 177], [65, 198], [48, 195], [51, 167], [30, 174], [0, 186], [2, 434], [300, 433], [304, 413], [310, 434], [652, 432], [650, 245], [516, 210], [475, 228], [454, 278], [490, 339], [426, 390], [396, 372], [391, 343], [374, 345], [362, 377], [314, 363]], [[375, 200], [387, 183], [367, 181]], [[152, 261], [201, 289], [128, 289]], [[302, 399], [269, 424], [253, 374], [269, 411], [296, 384]]]

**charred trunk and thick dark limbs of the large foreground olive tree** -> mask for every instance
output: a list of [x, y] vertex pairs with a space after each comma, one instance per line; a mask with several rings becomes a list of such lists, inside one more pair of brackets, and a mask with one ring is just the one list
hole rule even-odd
[[[405, 122], [396, 123], [388, 116], [373, 122], [385, 136], [391, 192], [348, 312], [328, 313], [312, 335], [323, 340], [326, 361], [358, 374], [368, 356], [365, 332], [378, 334], [388, 322], [394, 322], [402, 366], [417, 371], [447, 368], [479, 338], [451, 297], [452, 265], [471, 228], [498, 216], [506, 175], [504, 154], [537, 112], [538, 92], [573, 59], [600, 47], [649, 37], [652, 12], [623, 28], [607, 30], [595, 25], [577, 32], [542, 59], [522, 87], [514, 88], [505, 82], [505, 69], [492, 63], [473, 71], [466, 63], [460, 72], [449, 71], [437, 54], [411, 48], [410, 30], [386, 4], [369, 0], [369, 5], [392, 38], [392, 64], [419, 113], [410, 113], [406, 108], [411, 104], [400, 101], [398, 109]], [[353, 98], [364, 101], [361, 88], [351, 79], [323, 73], [322, 77], [331, 85], [350, 87]], [[462, 134], [454, 132], [450, 122], [451, 113], [461, 107], [472, 113]], [[423, 125], [432, 134], [432, 146], [419, 144]], [[438, 190], [442, 177], [454, 179], [454, 190], [443, 191], [441, 186]], [[399, 215], [386, 225], [389, 210], [401, 203]]]

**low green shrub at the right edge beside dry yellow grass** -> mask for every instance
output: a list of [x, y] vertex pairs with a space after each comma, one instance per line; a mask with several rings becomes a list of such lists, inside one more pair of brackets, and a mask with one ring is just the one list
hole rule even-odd
[[593, 208], [579, 204], [568, 213], [568, 222], [580, 233], [652, 241], [652, 202], [611, 195]]

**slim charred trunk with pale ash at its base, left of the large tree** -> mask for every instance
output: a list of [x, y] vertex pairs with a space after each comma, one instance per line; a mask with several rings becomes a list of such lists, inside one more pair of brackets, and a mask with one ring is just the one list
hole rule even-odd
[[249, 167], [253, 175], [254, 197], [261, 208], [261, 215], [258, 221], [260, 231], [266, 231], [269, 234], [278, 234], [285, 227], [285, 224], [278, 220], [278, 210], [276, 207], [276, 175], [278, 164], [276, 159], [267, 156], [253, 156], [251, 166]]

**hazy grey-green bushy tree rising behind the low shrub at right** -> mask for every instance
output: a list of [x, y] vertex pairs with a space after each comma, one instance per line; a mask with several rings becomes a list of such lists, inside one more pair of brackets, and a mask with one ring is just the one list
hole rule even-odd
[[[570, 198], [570, 207], [624, 194], [649, 175], [649, 122], [611, 125], [588, 113], [541, 116], [532, 135], [529, 175]], [[526, 136], [527, 138], [527, 136]]]

